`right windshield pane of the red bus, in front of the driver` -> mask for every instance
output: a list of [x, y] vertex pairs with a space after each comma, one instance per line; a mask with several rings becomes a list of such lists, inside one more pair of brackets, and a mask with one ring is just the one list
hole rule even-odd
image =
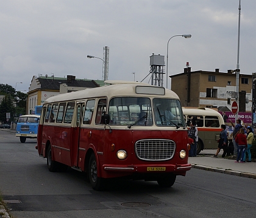
[[185, 126], [179, 100], [154, 98], [153, 107], [157, 126]]

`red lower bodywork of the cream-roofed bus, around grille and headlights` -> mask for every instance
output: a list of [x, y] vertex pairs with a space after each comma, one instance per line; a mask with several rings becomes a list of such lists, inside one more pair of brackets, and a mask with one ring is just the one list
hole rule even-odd
[[[168, 130], [141, 130], [113, 129], [109, 128], [70, 128], [64, 126], [39, 125], [37, 146], [38, 153], [46, 157], [47, 146], [52, 146], [52, 160], [74, 166], [86, 171], [86, 154], [93, 150], [98, 160], [98, 176], [104, 178], [122, 177], [136, 173], [150, 174], [148, 167], [165, 167], [165, 171], [157, 173], [172, 172], [176, 175], [185, 175], [190, 170], [188, 163], [188, 134], [187, 129], [172, 131]], [[79, 131], [80, 130], [80, 131]], [[144, 139], [165, 139], [176, 143], [175, 154], [170, 160], [149, 161], [140, 160], [135, 152], [135, 143]], [[115, 150], [112, 151], [112, 144]], [[116, 152], [125, 150], [127, 158], [119, 160]], [[180, 158], [180, 151], [185, 150], [187, 156]], [[154, 171], [155, 172], [155, 171]]]

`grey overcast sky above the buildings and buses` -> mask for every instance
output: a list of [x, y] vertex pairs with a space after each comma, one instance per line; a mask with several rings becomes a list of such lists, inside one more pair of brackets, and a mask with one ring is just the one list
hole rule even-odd
[[[168, 74], [236, 69], [239, 0], [8, 0], [0, 7], [0, 83], [29, 89], [33, 75], [141, 81], [149, 56], [165, 56]], [[256, 1], [241, 0], [240, 69], [255, 69]], [[22, 84], [20, 84], [22, 82]], [[149, 77], [144, 80], [149, 82]], [[170, 81], [168, 81], [170, 83]], [[166, 84], [166, 78], [164, 80]]]

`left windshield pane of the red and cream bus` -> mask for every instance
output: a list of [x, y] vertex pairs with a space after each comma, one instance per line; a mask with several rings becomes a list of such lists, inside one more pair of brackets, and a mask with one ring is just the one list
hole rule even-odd
[[152, 126], [152, 109], [149, 98], [112, 98], [108, 113], [110, 125]]

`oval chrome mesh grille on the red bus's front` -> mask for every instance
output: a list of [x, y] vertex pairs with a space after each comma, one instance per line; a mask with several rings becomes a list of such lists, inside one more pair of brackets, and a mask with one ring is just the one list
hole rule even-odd
[[135, 143], [135, 152], [141, 160], [169, 160], [175, 152], [175, 142], [172, 140], [140, 140]]

